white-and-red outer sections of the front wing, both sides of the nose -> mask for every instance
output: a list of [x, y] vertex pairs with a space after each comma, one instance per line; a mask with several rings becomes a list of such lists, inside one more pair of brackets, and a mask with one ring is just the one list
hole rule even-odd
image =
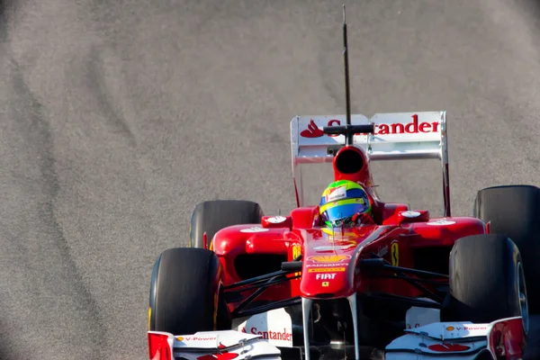
[[[261, 335], [237, 330], [175, 336], [148, 331], [150, 360], [229, 360], [286, 358], [280, 347]], [[521, 359], [526, 346], [520, 317], [489, 324], [433, 322], [405, 330], [385, 349], [385, 360]], [[282, 347], [283, 349], [283, 347]], [[487, 356], [487, 357], [481, 357]]]

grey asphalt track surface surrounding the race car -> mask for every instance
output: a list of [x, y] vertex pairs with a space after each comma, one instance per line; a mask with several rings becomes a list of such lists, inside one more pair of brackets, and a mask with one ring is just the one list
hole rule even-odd
[[[345, 112], [341, 4], [2, 3], [0, 358], [147, 358], [151, 269], [195, 204], [293, 208], [289, 121]], [[349, 1], [353, 112], [448, 112], [455, 215], [540, 184], [539, 15]], [[312, 174], [315, 201], [330, 174]], [[383, 200], [441, 214], [437, 162], [374, 174]]]

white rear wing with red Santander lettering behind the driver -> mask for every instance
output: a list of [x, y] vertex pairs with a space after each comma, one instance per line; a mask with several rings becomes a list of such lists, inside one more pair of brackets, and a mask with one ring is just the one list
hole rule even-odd
[[[346, 115], [296, 116], [291, 121], [293, 178], [297, 205], [303, 206], [302, 170], [299, 165], [327, 163], [345, 144], [344, 135], [326, 135], [326, 126], [345, 125]], [[374, 124], [373, 134], [355, 134], [353, 143], [365, 150], [369, 161], [437, 158], [443, 168], [445, 216], [450, 215], [446, 112], [377, 113], [368, 119], [351, 116], [352, 125]]]

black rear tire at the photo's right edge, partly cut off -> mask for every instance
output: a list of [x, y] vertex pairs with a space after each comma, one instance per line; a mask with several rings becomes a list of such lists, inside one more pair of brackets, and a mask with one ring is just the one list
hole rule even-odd
[[530, 311], [540, 312], [540, 189], [531, 185], [488, 187], [478, 192], [474, 216], [491, 221], [490, 232], [511, 238], [523, 257]]

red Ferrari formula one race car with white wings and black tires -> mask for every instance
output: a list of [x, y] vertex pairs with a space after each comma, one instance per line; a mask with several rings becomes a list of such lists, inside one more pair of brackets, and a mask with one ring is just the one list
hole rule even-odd
[[[446, 112], [345, 121], [293, 119], [298, 207], [286, 216], [247, 201], [195, 208], [190, 247], [154, 267], [150, 359], [523, 356], [539, 294], [540, 189], [483, 189], [474, 217], [452, 217]], [[442, 218], [374, 191], [370, 162], [424, 158], [441, 160]], [[319, 206], [303, 203], [301, 165], [322, 162], [365, 187], [373, 223], [320, 224]]]

